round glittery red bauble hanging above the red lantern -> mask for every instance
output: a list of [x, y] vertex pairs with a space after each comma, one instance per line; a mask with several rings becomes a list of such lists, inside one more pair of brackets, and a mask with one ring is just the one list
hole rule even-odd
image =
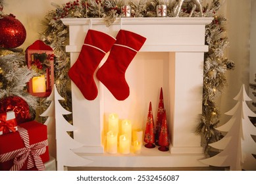
[[26, 30], [13, 16], [0, 17], [0, 48], [16, 48], [26, 39]]

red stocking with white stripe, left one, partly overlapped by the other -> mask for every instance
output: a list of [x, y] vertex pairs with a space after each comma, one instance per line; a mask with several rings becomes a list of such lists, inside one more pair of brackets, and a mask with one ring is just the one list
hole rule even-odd
[[68, 71], [69, 78], [76, 84], [89, 101], [98, 95], [93, 74], [116, 39], [103, 32], [88, 30], [80, 55]]

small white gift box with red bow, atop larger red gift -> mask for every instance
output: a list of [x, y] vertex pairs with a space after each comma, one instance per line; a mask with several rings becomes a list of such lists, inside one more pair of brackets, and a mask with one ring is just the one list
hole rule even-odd
[[17, 131], [17, 122], [13, 111], [0, 113], [0, 135]]

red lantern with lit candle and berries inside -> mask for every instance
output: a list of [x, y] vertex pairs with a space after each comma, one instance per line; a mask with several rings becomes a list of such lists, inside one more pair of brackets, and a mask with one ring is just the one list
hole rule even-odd
[[36, 97], [48, 97], [54, 85], [53, 49], [37, 40], [26, 49], [28, 68], [38, 76], [28, 82], [28, 93]]

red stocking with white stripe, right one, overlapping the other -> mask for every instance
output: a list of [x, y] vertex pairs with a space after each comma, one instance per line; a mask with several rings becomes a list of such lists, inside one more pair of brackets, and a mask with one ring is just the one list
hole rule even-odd
[[116, 35], [106, 62], [99, 68], [96, 76], [118, 101], [124, 101], [130, 95], [125, 80], [125, 72], [130, 62], [138, 53], [146, 38], [133, 32], [120, 30]]

